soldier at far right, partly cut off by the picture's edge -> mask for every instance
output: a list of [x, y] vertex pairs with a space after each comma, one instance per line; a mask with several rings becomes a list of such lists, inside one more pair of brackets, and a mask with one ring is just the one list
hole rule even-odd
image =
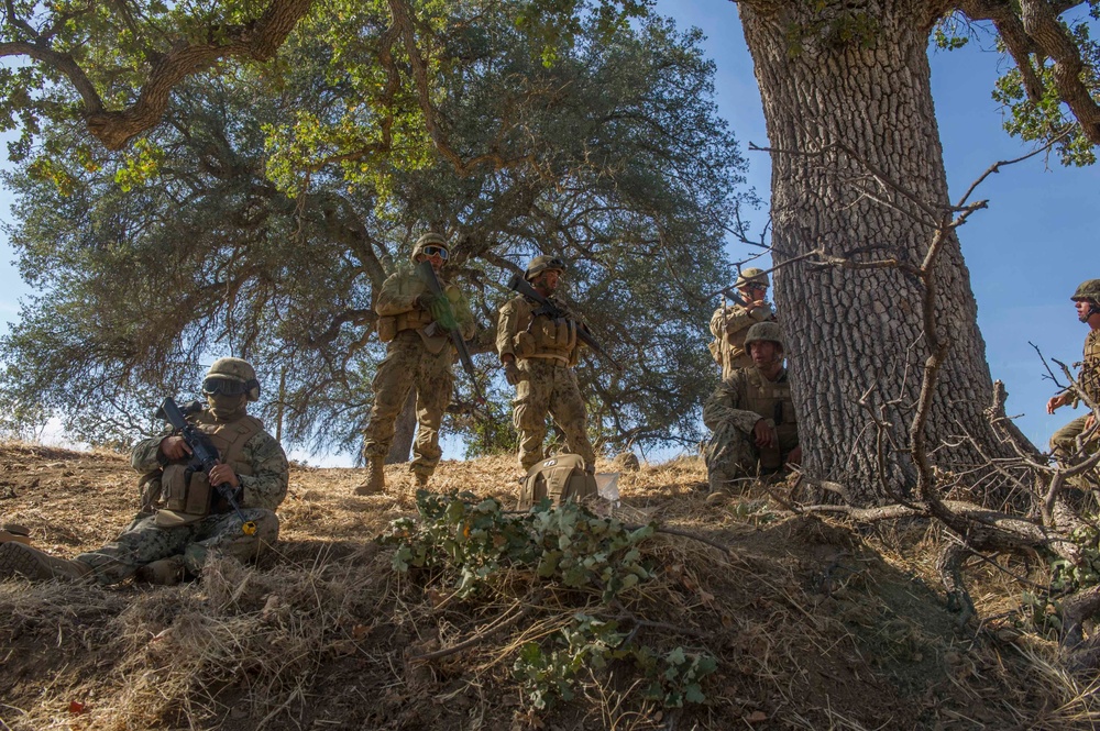
[[[1100, 279], [1082, 281], [1070, 298], [1077, 308], [1077, 319], [1089, 326], [1085, 336], [1085, 357], [1077, 383], [1093, 403], [1100, 405]], [[1054, 413], [1062, 407], [1071, 403], [1077, 408], [1080, 397], [1067, 389], [1046, 402], [1046, 412]], [[1050, 438], [1050, 451], [1059, 463], [1066, 462], [1077, 454], [1077, 438], [1093, 431], [1096, 418], [1092, 413], [1074, 419], [1059, 429]], [[1096, 434], [1086, 438], [1087, 444], [1097, 442]]]

